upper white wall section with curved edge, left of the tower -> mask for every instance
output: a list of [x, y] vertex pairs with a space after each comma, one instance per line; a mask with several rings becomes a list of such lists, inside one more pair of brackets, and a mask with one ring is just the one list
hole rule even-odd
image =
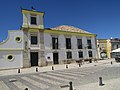
[[[21, 38], [21, 42], [15, 40], [16, 37]], [[8, 37], [5, 41], [0, 43], [0, 49], [23, 49], [24, 39], [23, 31], [21, 30], [11, 30], [8, 32]]]

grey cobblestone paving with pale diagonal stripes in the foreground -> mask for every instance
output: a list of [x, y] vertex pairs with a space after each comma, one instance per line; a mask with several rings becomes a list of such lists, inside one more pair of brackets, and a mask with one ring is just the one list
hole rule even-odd
[[36, 72], [23, 75], [0, 77], [0, 90], [59, 90], [69, 87], [69, 82], [76, 82], [87, 75], [92, 75], [104, 67], [75, 68]]

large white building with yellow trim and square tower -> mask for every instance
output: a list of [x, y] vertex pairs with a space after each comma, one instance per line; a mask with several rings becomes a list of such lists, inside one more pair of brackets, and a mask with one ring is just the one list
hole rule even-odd
[[61, 25], [44, 28], [44, 13], [22, 9], [20, 30], [0, 43], [0, 69], [46, 66], [97, 58], [96, 34]]

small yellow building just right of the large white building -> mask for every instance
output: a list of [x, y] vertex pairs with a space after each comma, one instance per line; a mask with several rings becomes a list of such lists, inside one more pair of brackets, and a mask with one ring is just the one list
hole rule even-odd
[[109, 39], [97, 39], [98, 58], [111, 58], [111, 42]]

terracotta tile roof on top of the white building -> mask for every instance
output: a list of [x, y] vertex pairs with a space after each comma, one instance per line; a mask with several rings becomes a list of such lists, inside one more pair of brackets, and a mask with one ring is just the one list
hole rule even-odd
[[61, 25], [55, 28], [50, 28], [51, 30], [59, 30], [59, 31], [68, 31], [68, 32], [78, 32], [78, 33], [87, 33], [92, 34], [90, 32], [84, 31], [82, 29], [73, 27], [73, 26], [67, 26], [67, 25]]

